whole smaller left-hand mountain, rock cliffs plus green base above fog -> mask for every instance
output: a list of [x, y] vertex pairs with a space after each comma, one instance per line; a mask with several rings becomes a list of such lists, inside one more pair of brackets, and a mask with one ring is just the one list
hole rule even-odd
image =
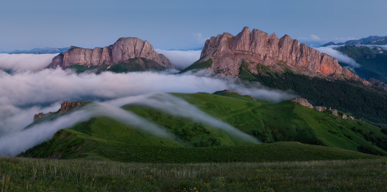
[[[74, 66], [73, 66], [74, 65]], [[113, 45], [94, 49], [71, 46], [53, 58], [50, 68], [69, 67], [116, 69], [120, 72], [141, 70], [178, 70], [163, 54], [154, 51], [148, 41], [139, 38], [120, 38]]]

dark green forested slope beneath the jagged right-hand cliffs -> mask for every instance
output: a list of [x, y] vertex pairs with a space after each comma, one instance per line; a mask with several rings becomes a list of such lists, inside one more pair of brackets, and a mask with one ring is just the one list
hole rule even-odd
[[[197, 69], [200, 64], [197, 62], [182, 72]], [[265, 65], [255, 63], [258, 74], [252, 74], [245, 62], [242, 61], [238, 75], [245, 82], [260, 82], [266, 87], [291, 90], [308, 99], [313, 106], [330, 106], [363, 121], [387, 126], [387, 92], [382, 89], [364, 86], [359, 81], [310, 77], [286, 69], [286, 66], [281, 66], [285, 67], [284, 72], [274, 72]], [[204, 65], [200, 66], [200, 69], [204, 68]]]

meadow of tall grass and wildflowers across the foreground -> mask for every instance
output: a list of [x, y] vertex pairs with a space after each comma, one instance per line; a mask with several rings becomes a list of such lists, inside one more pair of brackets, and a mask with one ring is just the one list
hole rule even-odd
[[151, 164], [0, 157], [2, 191], [386, 191], [387, 159]]

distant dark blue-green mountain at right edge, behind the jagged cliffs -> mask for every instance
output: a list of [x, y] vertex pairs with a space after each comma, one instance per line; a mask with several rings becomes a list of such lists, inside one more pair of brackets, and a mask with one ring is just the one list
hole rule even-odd
[[345, 45], [333, 49], [353, 58], [359, 64], [359, 67], [355, 70], [361, 78], [374, 78], [387, 83], [386, 44], [386, 40], [378, 40], [363, 43], [362, 45]]

